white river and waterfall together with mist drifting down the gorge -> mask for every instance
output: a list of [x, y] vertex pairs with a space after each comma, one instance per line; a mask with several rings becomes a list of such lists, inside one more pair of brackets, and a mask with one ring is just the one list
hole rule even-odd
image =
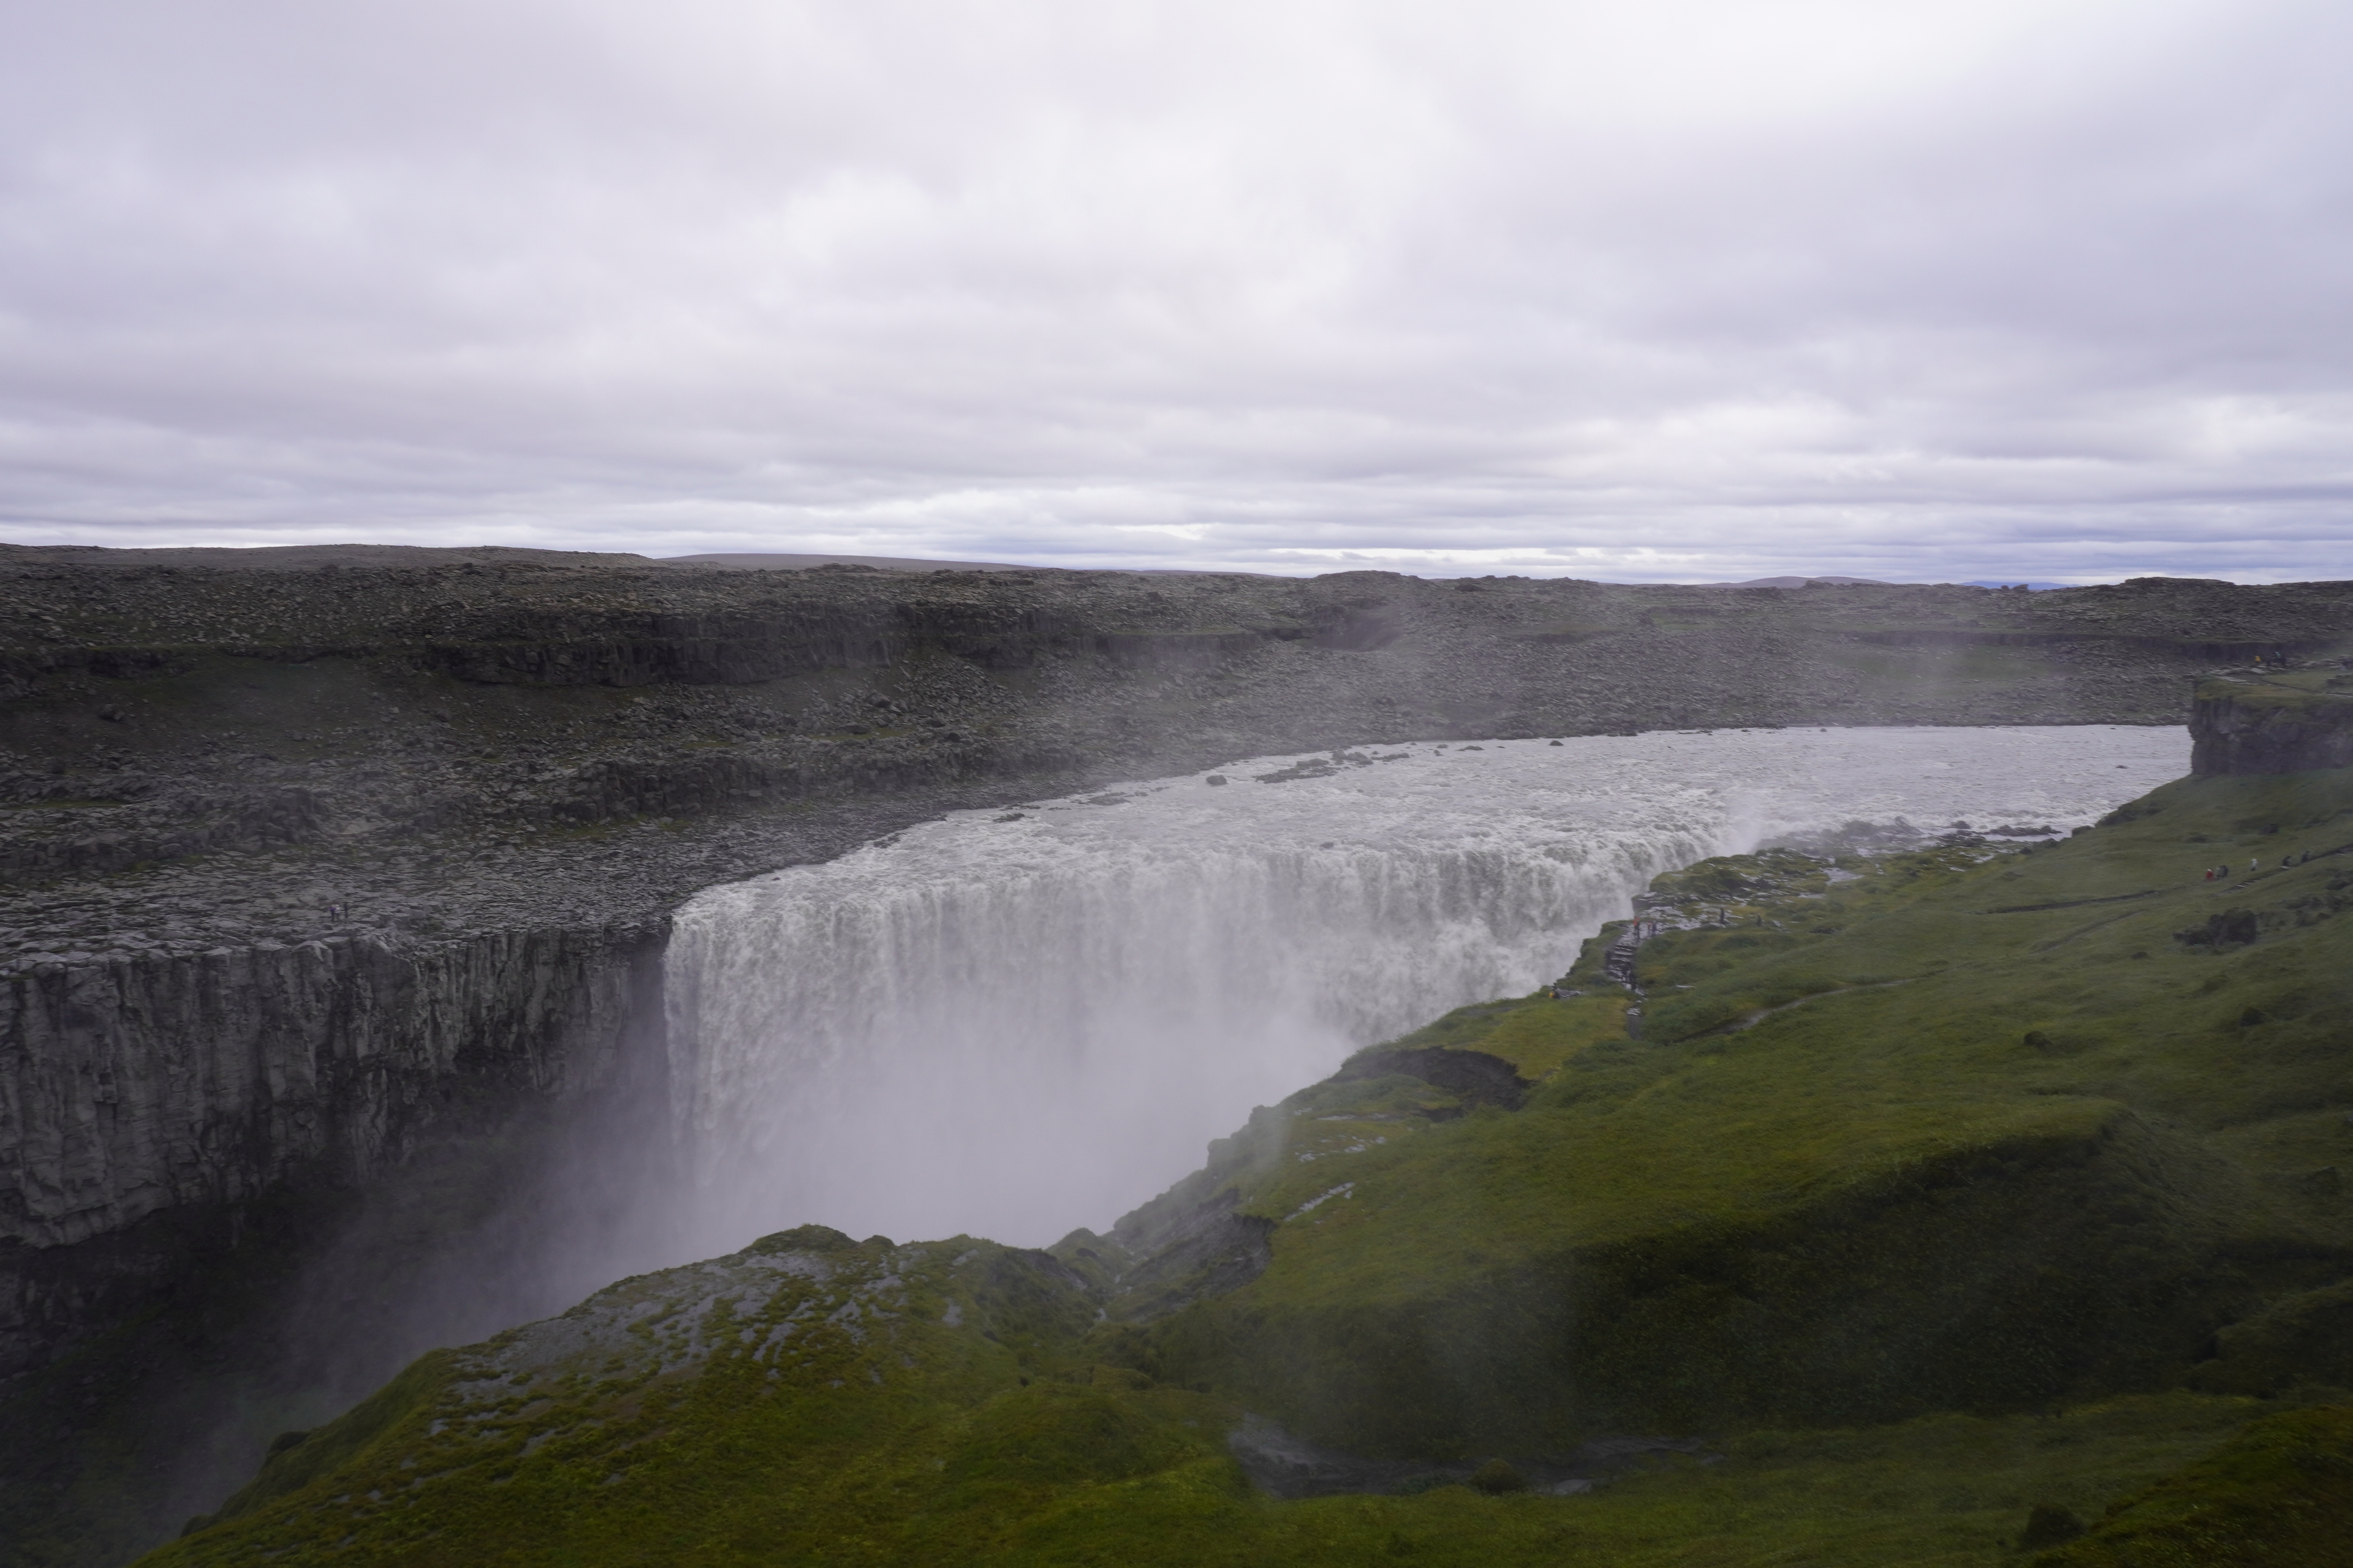
[[184, 1425], [172, 1509], [435, 1345], [793, 1225], [1045, 1246], [1198, 1168], [1358, 1046], [1525, 994], [1659, 872], [1852, 823], [2082, 825], [2177, 726], [1649, 731], [1257, 757], [962, 811], [704, 889], [633, 1067], [381, 1173], [271, 1371]]

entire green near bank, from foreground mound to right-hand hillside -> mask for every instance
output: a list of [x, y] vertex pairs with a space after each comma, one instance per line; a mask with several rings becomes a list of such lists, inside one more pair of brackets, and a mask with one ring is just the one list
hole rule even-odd
[[[2341, 1561], [2348, 907], [2344, 771], [1706, 863], [1640, 997], [1605, 931], [1054, 1253], [624, 1281], [151, 1561]], [[1245, 1413], [1384, 1495], [1264, 1495]]]

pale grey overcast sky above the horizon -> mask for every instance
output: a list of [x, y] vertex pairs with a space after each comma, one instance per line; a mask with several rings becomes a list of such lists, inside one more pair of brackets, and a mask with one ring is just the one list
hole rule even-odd
[[0, 538], [2353, 578], [2344, 0], [0, 7]]

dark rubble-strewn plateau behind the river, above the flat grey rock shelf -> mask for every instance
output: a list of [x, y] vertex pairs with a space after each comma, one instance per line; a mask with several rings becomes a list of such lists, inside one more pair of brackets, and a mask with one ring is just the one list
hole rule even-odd
[[708, 820], [1384, 738], [2174, 722], [2184, 675], [2315, 654], [2353, 628], [2344, 585], [2028, 595], [144, 555], [169, 552], [0, 548], [0, 799], [16, 806], [0, 877]]

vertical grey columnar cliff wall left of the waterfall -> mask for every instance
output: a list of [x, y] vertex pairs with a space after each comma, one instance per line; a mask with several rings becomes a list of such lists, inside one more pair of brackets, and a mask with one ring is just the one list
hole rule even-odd
[[148, 1248], [75, 1281], [35, 1251], [285, 1182], [365, 1182], [426, 1133], [609, 1081], [661, 1016], [661, 938], [78, 952], [0, 976], [0, 1375], [172, 1267]]

